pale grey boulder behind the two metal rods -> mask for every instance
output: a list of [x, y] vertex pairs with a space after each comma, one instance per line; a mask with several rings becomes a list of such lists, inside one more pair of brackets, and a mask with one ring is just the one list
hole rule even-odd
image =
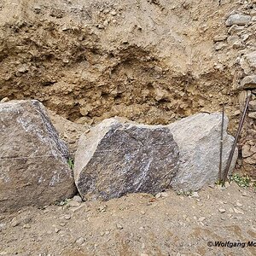
[[[180, 165], [171, 186], [176, 190], [197, 190], [218, 179], [220, 152], [220, 113], [198, 113], [168, 125], [180, 150]], [[224, 118], [223, 168], [226, 166], [234, 138], [227, 134]], [[236, 164], [237, 151], [230, 170]]]

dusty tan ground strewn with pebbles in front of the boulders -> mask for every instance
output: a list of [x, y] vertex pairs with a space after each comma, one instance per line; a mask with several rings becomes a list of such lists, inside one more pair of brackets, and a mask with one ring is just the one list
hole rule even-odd
[[0, 216], [0, 255], [255, 255], [255, 247], [209, 247], [209, 241], [256, 242], [256, 194], [236, 183], [197, 195], [169, 190], [107, 202], [68, 201]]

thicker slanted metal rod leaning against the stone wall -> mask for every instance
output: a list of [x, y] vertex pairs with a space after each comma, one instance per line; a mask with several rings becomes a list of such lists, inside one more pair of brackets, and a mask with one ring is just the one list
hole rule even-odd
[[224, 185], [224, 183], [226, 182], [226, 179], [227, 179], [227, 177], [228, 177], [228, 173], [229, 173], [229, 171], [230, 171], [230, 165], [231, 165], [231, 162], [232, 162], [232, 159], [233, 159], [233, 155], [234, 155], [235, 150], [236, 150], [236, 144], [237, 144], [237, 141], [238, 141], [238, 137], [239, 137], [239, 135], [240, 135], [240, 133], [241, 133], [241, 127], [242, 127], [242, 125], [243, 125], [243, 123], [244, 123], [244, 119], [245, 119], [245, 117], [246, 117], [247, 108], [248, 108], [248, 105], [249, 105], [249, 102], [250, 102], [250, 97], [251, 97], [251, 95], [249, 94], [249, 95], [247, 96], [246, 104], [245, 104], [245, 107], [244, 107], [244, 109], [243, 109], [243, 113], [242, 113], [242, 115], [241, 115], [240, 123], [239, 123], [239, 126], [238, 126], [238, 130], [237, 130], [237, 132], [236, 132], [236, 137], [235, 137], [235, 141], [234, 141], [234, 143], [233, 143], [233, 147], [232, 147], [232, 149], [231, 149], [231, 151], [230, 151], [230, 156], [229, 156], [229, 160], [228, 160], [228, 162], [227, 162], [227, 166], [226, 166], [225, 169], [224, 169], [224, 181], [223, 181], [223, 185]]

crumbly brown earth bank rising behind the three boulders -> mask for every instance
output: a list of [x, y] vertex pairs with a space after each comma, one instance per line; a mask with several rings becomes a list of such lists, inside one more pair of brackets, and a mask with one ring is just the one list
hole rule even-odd
[[89, 124], [238, 109], [237, 49], [217, 52], [212, 40], [226, 33], [233, 1], [12, 2], [1, 9], [0, 97], [36, 98]]

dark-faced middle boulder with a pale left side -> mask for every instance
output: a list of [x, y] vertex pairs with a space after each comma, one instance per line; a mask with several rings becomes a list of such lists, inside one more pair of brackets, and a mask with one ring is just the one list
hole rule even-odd
[[79, 140], [74, 177], [84, 200], [166, 189], [178, 168], [178, 148], [165, 126], [106, 119]]

